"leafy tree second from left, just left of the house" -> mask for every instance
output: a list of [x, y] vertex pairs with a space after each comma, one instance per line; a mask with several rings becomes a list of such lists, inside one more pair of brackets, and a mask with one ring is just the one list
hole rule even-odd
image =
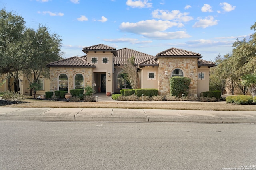
[[[39, 78], [49, 78], [49, 68], [46, 68], [47, 63], [62, 59], [61, 41], [56, 33], [50, 34], [46, 26], [39, 25], [38, 29], [28, 29], [26, 37], [31, 46], [27, 51], [30, 56], [28, 68], [23, 70], [29, 84], [38, 82]], [[33, 88], [30, 89], [32, 95]]]

